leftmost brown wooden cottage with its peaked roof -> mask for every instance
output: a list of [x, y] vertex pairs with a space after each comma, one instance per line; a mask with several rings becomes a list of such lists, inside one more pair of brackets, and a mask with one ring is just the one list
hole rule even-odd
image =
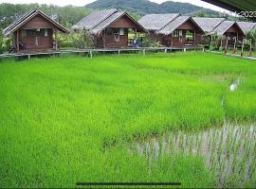
[[33, 9], [5, 28], [3, 34], [12, 37], [14, 52], [45, 52], [58, 49], [57, 41], [53, 40], [53, 35], [56, 37], [57, 31], [68, 32], [64, 26], [42, 11]]

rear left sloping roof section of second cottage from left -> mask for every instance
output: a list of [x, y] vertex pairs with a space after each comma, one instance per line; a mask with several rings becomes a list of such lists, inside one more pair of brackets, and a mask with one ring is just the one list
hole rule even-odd
[[76, 25], [72, 26], [72, 29], [92, 29], [93, 27], [99, 25], [106, 18], [111, 16], [112, 14], [118, 12], [117, 9], [104, 9], [100, 11], [95, 11], [82, 18]]

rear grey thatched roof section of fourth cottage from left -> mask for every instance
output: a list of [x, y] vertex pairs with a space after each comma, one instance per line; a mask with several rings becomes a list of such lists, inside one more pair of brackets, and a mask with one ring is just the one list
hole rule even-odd
[[210, 33], [215, 27], [225, 21], [225, 18], [201, 18], [193, 17], [192, 20], [205, 32]]

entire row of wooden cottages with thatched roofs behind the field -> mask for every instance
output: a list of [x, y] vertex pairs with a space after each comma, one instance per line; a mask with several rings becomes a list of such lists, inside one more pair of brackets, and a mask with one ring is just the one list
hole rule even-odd
[[[123, 48], [128, 46], [128, 33], [135, 36], [145, 33], [151, 40], [165, 46], [193, 46], [201, 43], [203, 34], [217, 33], [226, 36], [223, 40], [241, 40], [255, 23], [232, 22], [224, 18], [192, 18], [180, 14], [148, 14], [139, 21], [127, 12], [117, 9], [96, 11], [82, 18], [73, 30], [86, 29], [97, 47]], [[5, 36], [12, 36], [15, 52], [57, 50], [58, 43], [53, 35], [68, 29], [38, 9], [28, 11], [3, 30]], [[55, 37], [55, 39], [57, 39]], [[225, 42], [222, 42], [225, 44]]]

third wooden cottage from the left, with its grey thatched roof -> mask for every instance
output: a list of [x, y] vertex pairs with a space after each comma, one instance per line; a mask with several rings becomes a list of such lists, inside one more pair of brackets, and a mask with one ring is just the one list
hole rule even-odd
[[204, 34], [190, 16], [180, 14], [148, 14], [138, 23], [149, 31], [149, 39], [165, 46], [194, 46]]

